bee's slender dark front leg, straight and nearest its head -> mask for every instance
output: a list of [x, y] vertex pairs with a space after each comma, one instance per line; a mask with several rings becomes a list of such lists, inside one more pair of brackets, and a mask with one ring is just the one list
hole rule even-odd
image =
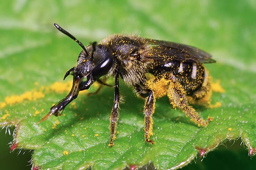
[[119, 74], [118, 72], [115, 75], [115, 94], [114, 94], [114, 105], [111, 111], [111, 115], [109, 117], [109, 130], [110, 130], [110, 143], [109, 146], [113, 146], [113, 141], [115, 140], [116, 136], [116, 128], [117, 128], [117, 120], [119, 118]]

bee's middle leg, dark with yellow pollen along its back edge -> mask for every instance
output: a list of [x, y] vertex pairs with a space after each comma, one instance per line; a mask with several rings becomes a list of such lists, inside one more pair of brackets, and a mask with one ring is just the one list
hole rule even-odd
[[144, 104], [144, 132], [145, 132], [145, 141], [154, 144], [154, 141], [150, 140], [150, 136], [153, 135], [153, 119], [152, 115], [155, 112], [155, 102], [156, 98], [154, 93], [150, 89], [142, 89], [138, 84], [134, 86], [134, 90], [137, 95], [145, 98]]

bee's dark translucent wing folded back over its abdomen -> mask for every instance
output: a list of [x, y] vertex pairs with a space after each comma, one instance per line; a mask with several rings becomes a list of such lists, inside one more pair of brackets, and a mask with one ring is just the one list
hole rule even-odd
[[147, 53], [147, 57], [150, 59], [178, 60], [196, 63], [216, 62], [215, 60], [211, 59], [212, 56], [210, 54], [199, 50], [196, 47], [155, 39], [147, 39], [147, 41], [148, 44], [152, 45]]

